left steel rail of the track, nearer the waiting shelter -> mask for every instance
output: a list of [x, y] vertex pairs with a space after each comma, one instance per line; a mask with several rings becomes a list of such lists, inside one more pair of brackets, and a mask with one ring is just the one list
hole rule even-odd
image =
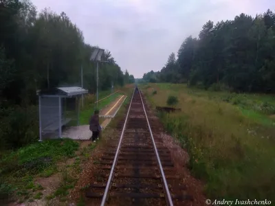
[[[135, 94], [135, 89], [133, 90], [133, 95], [134, 94]], [[104, 204], [107, 200], [107, 195], [108, 195], [109, 188], [110, 188], [110, 185], [111, 185], [111, 180], [113, 179], [113, 170], [115, 169], [115, 165], [118, 161], [118, 153], [120, 151], [120, 146], [121, 146], [122, 138], [123, 138], [123, 135], [124, 135], [124, 130], [125, 130], [125, 127], [126, 127], [126, 122], [127, 122], [128, 115], [129, 115], [129, 112], [130, 112], [130, 109], [131, 109], [131, 104], [132, 104], [132, 101], [133, 101], [133, 95], [132, 95], [132, 98], [131, 98], [131, 102], [130, 102], [129, 109], [128, 109], [128, 112], [127, 112], [127, 115], [126, 115], [126, 119], [125, 119], [125, 122], [124, 122], [122, 133], [120, 135], [120, 141], [118, 143], [118, 149], [115, 152], [115, 158], [113, 159], [113, 165], [111, 167], [111, 172], [110, 172], [110, 175], [109, 175], [109, 178], [108, 178], [108, 181], [107, 181], [107, 185], [106, 185], [105, 190], [104, 190], [104, 194], [103, 194], [100, 206], [104, 206]]]

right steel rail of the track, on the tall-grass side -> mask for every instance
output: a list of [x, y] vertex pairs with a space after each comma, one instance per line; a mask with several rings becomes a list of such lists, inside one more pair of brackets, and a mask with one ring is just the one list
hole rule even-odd
[[[140, 89], [138, 89], [139, 93], [140, 93], [140, 98], [142, 100], [142, 94], [140, 92]], [[164, 170], [162, 168], [162, 163], [159, 159], [159, 153], [157, 152], [157, 146], [155, 146], [155, 140], [154, 140], [154, 137], [153, 137], [153, 133], [152, 133], [152, 130], [151, 130], [151, 126], [149, 124], [149, 120], [148, 120], [148, 117], [147, 117], [147, 113], [146, 113], [146, 109], [145, 109], [145, 106], [144, 106], [144, 103], [143, 103], [143, 100], [142, 100], [142, 106], [143, 106], [143, 109], [144, 109], [144, 113], [145, 113], [145, 117], [146, 117], [146, 120], [147, 120], [147, 123], [148, 123], [148, 128], [149, 128], [149, 131], [150, 131], [150, 134], [151, 134], [151, 139], [153, 141], [153, 146], [154, 146], [154, 150], [155, 150], [155, 155], [157, 155], [157, 162], [159, 164], [159, 170], [160, 172], [162, 173], [162, 181], [164, 181], [164, 187], [165, 187], [165, 192], [166, 192], [166, 195], [168, 197], [168, 202], [170, 204], [170, 206], [173, 206], [173, 201], [172, 201], [172, 198], [171, 198], [171, 195], [170, 195], [170, 191], [169, 191], [169, 188], [168, 188], [168, 185], [167, 185], [167, 182], [166, 182], [166, 178], [165, 178], [165, 174], [164, 174]]]

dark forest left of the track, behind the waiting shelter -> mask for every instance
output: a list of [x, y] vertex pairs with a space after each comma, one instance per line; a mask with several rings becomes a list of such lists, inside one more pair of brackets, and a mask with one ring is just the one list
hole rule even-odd
[[[37, 90], [80, 87], [83, 67], [83, 87], [96, 91], [89, 58], [98, 46], [85, 43], [65, 12], [38, 12], [29, 0], [0, 1], [0, 30], [0, 149], [18, 148], [38, 139]], [[102, 60], [109, 63], [100, 63], [100, 91], [134, 82], [107, 49]]]

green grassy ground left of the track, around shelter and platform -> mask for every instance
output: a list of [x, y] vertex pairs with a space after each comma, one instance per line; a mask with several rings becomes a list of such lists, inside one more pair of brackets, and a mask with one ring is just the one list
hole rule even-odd
[[[109, 91], [100, 93], [102, 99]], [[119, 93], [111, 95], [99, 102], [99, 108], [106, 106], [117, 98]], [[94, 112], [94, 97], [88, 95], [85, 107], [80, 114], [80, 123], [87, 124], [89, 116]], [[80, 164], [87, 161], [96, 144], [80, 148], [78, 141], [72, 139], [54, 139], [41, 143], [36, 142], [19, 150], [2, 151], [0, 154], [0, 203], [7, 201], [32, 202], [38, 199], [52, 201], [58, 198], [65, 201], [68, 190], [74, 187], [77, 176], [81, 172]], [[66, 161], [68, 161], [66, 163]], [[65, 163], [65, 164], [64, 164]], [[58, 187], [50, 194], [43, 194], [43, 186], [37, 179], [51, 178], [60, 174]], [[0, 205], [1, 205], [0, 204]]]

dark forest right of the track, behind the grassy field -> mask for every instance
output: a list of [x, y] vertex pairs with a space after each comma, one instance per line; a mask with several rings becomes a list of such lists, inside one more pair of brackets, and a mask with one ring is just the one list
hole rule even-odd
[[201, 89], [275, 93], [275, 14], [208, 21], [198, 38], [188, 36], [146, 82], [187, 83]]

